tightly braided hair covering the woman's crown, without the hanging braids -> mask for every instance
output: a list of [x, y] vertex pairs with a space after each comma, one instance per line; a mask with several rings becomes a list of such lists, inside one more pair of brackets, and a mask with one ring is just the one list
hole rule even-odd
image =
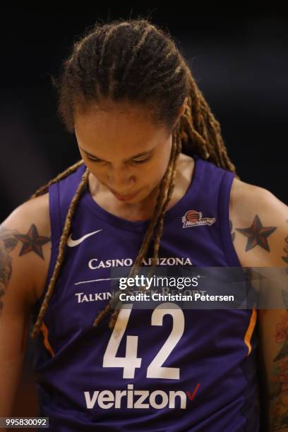
[[171, 132], [189, 95], [189, 71], [171, 37], [148, 20], [95, 25], [74, 44], [59, 80], [59, 114], [74, 131], [75, 112], [103, 100], [145, 107]]

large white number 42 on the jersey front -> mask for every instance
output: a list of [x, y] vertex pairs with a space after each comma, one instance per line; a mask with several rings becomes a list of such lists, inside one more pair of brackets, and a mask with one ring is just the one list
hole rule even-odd
[[[171, 305], [172, 308], [171, 308]], [[121, 308], [116, 320], [112, 335], [107, 344], [103, 357], [104, 368], [123, 368], [123, 378], [134, 378], [136, 368], [140, 368], [142, 357], [137, 356], [138, 336], [126, 336], [126, 354], [124, 357], [117, 357], [117, 351], [124, 337], [128, 320], [131, 315], [133, 304], [127, 304], [127, 308]], [[181, 339], [184, 333], [184, 313], [176, 304], [163, 303], [154, 309], [151, 316], [151, 325], [163, 325], [164, 315], [171, 315], [173, 326], [171, 333], [164, 342], [162, 348], [151, 361], [147, 368], [147, 378], [169, 378], [179, 380], [179, 368], [167, 368], [162, 366], [168, 358], [172, 349]]]

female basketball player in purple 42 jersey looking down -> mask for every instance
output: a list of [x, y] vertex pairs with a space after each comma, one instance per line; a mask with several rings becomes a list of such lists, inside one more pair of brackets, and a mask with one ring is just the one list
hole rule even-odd
[[81, 160], [1, 225], [0, 416], [32, 311], [52, 431], [255, 432], [259, 374], [271, 430], [288, 430], [284, 304], [114, 309], [110, 285], [126, 267], [283, 267], [287, 207], [237, 178], [184, 56], [148, 20], [97, 24], [54, 84]]

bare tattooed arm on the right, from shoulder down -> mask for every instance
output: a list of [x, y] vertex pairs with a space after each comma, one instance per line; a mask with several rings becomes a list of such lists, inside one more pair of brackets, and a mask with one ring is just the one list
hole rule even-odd
[[232, 199], [236, 251], [244, 267], [263, 275], [258, 287], [263, 413], [268, 414], [271, 431], [281, 427], [284, 432], [288, 431], [288, 208], [270, 191], [239, 181]]

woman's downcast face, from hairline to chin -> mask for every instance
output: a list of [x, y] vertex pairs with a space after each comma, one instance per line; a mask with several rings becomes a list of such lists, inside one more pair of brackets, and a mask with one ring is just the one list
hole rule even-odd
[[169, 164], [172, 133], [154, 121], [148, 108], [102, 100], [84, 112], [76, 109], [73, 121], [80, 154], [100, 186], [128, 205], [157, 196]]

